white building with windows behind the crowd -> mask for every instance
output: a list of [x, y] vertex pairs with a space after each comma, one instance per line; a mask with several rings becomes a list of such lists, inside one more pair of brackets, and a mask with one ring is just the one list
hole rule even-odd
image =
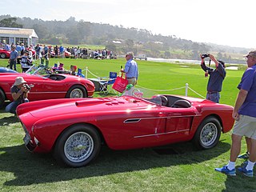
[[38, 43], [38, 35], [33, 29], [0, 27], [0, 43], [15, 45], [24, 43], [24, 46], [36, 45]]

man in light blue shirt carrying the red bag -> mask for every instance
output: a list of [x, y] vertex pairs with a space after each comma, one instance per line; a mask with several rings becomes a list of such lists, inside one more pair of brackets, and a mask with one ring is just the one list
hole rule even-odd
[[138, 65], [137, 62], [134, 61], [133, 52], [128, 52], [126, 54], [126, 61], [125, 69], [121, 69], [121, 72], [126, 73], [128, 84], [135, 86], [138, 81]]

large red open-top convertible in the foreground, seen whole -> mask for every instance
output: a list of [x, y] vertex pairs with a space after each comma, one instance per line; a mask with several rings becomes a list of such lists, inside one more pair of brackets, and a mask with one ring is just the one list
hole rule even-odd
[[86, 166], [105, 144], [129, 150], [193, 141], [217, 145], [231, 130], [232, 106], [176, 95], [153, 98], [70, 98], [27, 102], [17, 108], [26, 148], [53, 152], [66, 166]]

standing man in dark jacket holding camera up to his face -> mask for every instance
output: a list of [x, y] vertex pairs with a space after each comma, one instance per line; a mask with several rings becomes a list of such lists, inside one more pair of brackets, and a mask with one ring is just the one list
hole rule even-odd
[[[206, 99], [212, 102], [219, 102], [219, 93], [222, 91], [222, 82], [226, 77], [225, 62], [216, 60], [216, 58], [214, 58], [214, 55], [212, 54], [201, 54], [200, 57], [202, 59], [201, 67], [202, 70], [205, 71], [205, 77], [208, 77], [208, 74], [210, 75], [207, 84]], [[213, 61], [215, 63], [215, 68], [210, 67], [210, 62], [209, 66], [206, 66], [205, 58], [208, 57], [210, 58], [210, 61]]]

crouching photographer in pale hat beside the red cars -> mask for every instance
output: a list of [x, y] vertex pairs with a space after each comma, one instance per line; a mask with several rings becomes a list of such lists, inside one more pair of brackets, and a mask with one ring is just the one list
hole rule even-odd
[[27, 97], [30, 91], [30, 86], [25, 83], [26, 81], [22, 77], [17, 77], [15, 79], [14, 85], [10, 88], [10, 93], [14, 98], [14, 101], [6, 106], [6, 112], [16, 114], [16, 108], [18, 105], [22, 104], [23, 102], [29, 102]]

